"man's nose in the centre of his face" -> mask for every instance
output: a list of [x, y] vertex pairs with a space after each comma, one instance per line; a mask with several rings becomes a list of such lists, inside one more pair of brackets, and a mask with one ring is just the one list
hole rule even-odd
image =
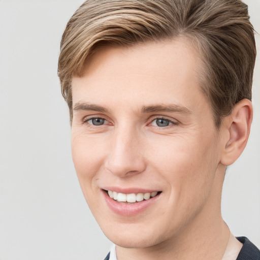
[[146, 168], [138, 133], [125, 128], [113, 133], [105, 162], [106, 169], [121, 178], [141, 173]]

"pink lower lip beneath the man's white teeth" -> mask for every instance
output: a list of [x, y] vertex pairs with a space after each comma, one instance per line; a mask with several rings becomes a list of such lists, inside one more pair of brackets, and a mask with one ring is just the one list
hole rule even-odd
[[149, 199], [149, 200], [143, 200], [141, 202], [136, 203], [124, 203], [124, 202], [117, 202], [113, 199], [111, 199], [108, 196], [107, 191], [103, 190], [103, 195], [105, 198], [105, 201], [108, 205], [108, 207], [116, 214], [122, 215], [122, 216], [134, 216], [142, 213], [145, 209], [147, 209], [149, 206], [151, 206], [155, 201], [160, 197], [159, 193], [157, 196]]

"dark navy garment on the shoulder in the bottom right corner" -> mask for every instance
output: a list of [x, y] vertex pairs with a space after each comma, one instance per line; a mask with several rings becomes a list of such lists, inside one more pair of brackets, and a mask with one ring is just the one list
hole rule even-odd
[[243, 243], [237, 260], [260, 260], [259, 249], [248, 238], [237, 237], [237, 240]]

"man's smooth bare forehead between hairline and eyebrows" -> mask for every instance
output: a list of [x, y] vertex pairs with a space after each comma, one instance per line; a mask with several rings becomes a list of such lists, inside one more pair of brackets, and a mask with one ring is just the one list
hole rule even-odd
[[184, 37], [131, 47], [104, 47], [87, 60], [81, 77], [73, 77], [73, 104], [94, 101], [112, 106], [134, 99], [178, 104], [183, 98], [188, 104], [195, 98], [190, 92], [200, 92], [200, 66], [197, 49]]

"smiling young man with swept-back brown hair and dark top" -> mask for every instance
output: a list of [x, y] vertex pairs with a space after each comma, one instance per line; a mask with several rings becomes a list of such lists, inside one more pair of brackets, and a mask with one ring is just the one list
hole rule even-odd
[[61, 40], [84, 197], [106, 259], [260, 259], [221, 217], [252, 122], [253, 27], [241, 1], [86, 1]]

